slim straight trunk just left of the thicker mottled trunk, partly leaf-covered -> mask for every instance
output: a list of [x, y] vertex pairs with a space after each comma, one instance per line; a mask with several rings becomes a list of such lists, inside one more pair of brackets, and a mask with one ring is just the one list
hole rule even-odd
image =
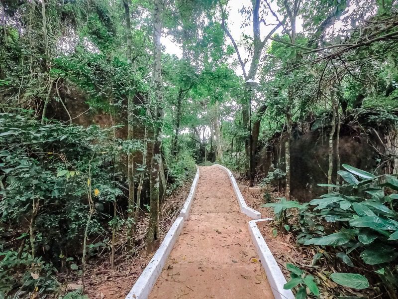
[[[127, 41], [127, 63], [131, 64], [131, 23], [129, 0], [123, 0], [124, 18], [126, 20], [126, 41]], [[130, 92], [127, 99], [127, 140], [132, 141], [134, 137], [134, 100]], [[134, 155], [130, 150], [127, 153], [127, 181], [128, 181], [128, 218], [129, 225], [127, 230], [128, 243], [132, 242], [134, 236], [134, 225], [132, 223], [135, 208], [135, 186], [134, 186]]]

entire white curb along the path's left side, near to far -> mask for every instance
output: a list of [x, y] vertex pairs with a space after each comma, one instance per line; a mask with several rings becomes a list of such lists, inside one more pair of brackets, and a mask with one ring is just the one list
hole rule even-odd
[[170, 227], [162, 244], [160, 244], [155, 255], [149, 261], [148, 265], [145, 267], [144, 271], [138, 277], [137, 281], [131, 288], [130, 292], [127, 294], [125, 299], [147, 299], [149, 294], [151, 294], [153, 287], [156, 284], [160, 274], [162, 273], [163, 267], [172, 251], [174, 244], [176, 243], [178, 237], [184, 226], [184, 221], [188, 218], [193, 199], [195, 198], [195, 191], [199, 181], [199, 167], [196, 165], [196, 175], [194, 181], [192, 182], [190, 193], [181, 209], [180, 216], [174, 221], [173, 225]]

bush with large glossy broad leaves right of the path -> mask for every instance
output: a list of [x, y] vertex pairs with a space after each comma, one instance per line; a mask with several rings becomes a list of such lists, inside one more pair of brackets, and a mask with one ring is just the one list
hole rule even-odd
[[[382, 281], [386, 294], [392, 296], [398, 289], [398, 194], [389, 193], [398, 190], [398, 178], [374, 175], [346, 164], [343, 167], [346, 170], [338, 171], [344, 180], [341, 186], [319, 184], [333, 187], [333, 192], [299, 207], [297, 202], [283, 199], [266, 206], [274, 206], [277, 217], [284, 210], [298, 208], [298, 223], [293, 231], [299, 244], [325, 247], [329, 255], [343, 263], [341, 269], [364, 269], [373, 281], [376, 277]], [[365, 277], [345, 274], [352, 282], [347, 277], [331, 275], [330, 278], [346, 287], [366, 288]]]

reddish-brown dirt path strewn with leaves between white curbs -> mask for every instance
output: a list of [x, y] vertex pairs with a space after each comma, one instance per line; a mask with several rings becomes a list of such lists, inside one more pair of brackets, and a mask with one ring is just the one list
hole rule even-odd
[[189, 219], [149, 298], [272, 299], [227, 174], [200, 167]]

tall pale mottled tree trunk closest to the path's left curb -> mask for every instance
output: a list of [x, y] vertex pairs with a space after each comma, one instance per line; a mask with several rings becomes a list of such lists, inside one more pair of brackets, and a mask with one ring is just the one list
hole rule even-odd
[[156, 116], [154, 120], [154, 142], [149, 180], [149, 229], [147, 233], [147, 251], [152, 253], [160, 245], [159, 235], [159, 169], [162, 162], [162, 123], [163, 123], [163, 92], [162, 92], [162, 49], [160, 37], [162, 34], [163, 1], [154, 0], [153, 11], [153, 89], [156, 99]]

